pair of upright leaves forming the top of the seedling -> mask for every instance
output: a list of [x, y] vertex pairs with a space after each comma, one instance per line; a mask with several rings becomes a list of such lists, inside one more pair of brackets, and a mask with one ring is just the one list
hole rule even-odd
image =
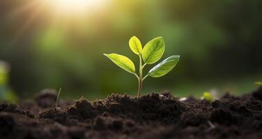
[[164, 54], [164, 39], [162, 37], [154, 38], [146, 43], [144, 49], [142, 49], [140, 40], [133, 36], [129, 40], [129, 46], [134, 54], [142, 56], [146, 64], [156, 63]]

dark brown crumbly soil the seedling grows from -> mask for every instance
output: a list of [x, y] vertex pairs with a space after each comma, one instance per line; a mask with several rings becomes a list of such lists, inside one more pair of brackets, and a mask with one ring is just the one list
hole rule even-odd
[[262, 138], [262, 88], [213, 102], [169, 93], [62, 102], [44, 90], [34, 101], [0, 104], [0, 138]]

